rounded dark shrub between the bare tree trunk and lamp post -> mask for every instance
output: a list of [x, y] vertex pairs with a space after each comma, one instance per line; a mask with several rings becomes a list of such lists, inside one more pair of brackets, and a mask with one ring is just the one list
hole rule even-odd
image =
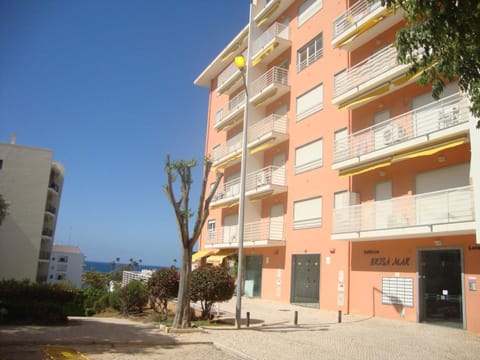
[[212, 305], [230, 300], [235, 279], [221, 266], [202, 266], [192, 272], [191, 300], [200, 301], [202, 319], [210, 319]]

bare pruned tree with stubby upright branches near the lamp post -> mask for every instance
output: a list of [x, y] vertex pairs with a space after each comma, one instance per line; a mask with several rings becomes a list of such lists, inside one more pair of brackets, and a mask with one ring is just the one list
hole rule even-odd
[[[203, 166], [203, 180], [200, 189], [200, 197], [198, 208], [196, 212], [196, 221], [193, 226], [192, 234], [190, 235], [189, 220], [193, 217], [193, 213], [189, 208], [190, 188], [193, 183], [192, 168], [197, 166], [195, 160], [185, 161], [170, 161], [170, 154], [167, 154], [165, 161], [165, 172], [167, 174], [167, 184], [164, 186], [164, 191], [173, 206], [175, 212], [175, 219], [182, 246], [182, 262], [180, 264], [180, 283], [178, 289], [178, 302], [175, 311], [175, 318], [173, 320], [173, 327], [186, 328], [190, 327], [190, 284], [192, 278], [192, 253], [193, 247], [200, 237], [201, 231], [209, 215], [210, 202], [217, 191], [218, 184], [222, 179], [223, 174], [217, 172], [216, 181], [208, 197], [205, 197], [208, 176], [212, 167], [212, 162], [205, 159]], [[180, 196], [177, 200], [174, 193], [174, 184], [180, 179]]]

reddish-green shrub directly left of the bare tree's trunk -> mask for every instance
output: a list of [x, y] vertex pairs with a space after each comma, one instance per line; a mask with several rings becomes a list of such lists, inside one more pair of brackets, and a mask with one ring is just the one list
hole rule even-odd
[[180, 276], [175, 267], [157, 270], [148, 280], [150, 303], [155, 312], [159, 313], [160, 321], [168, 317], [168, 301], [177, 297], [179, 280]]

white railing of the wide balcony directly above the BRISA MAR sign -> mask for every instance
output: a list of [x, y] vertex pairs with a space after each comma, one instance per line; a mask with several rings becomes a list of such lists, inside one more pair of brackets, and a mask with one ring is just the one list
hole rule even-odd
[[465, 186], [334, 209], [332, 235], [410, 228], [412, 236], [424, 234], [424, 227], [435, 233], [441, 225], [474, 221], [473, 196]]

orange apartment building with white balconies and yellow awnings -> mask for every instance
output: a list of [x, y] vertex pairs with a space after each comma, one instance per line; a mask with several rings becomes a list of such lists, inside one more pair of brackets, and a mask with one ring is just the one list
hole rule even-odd
[[195, 80], [225, 174], [196, 257], [235, 259], [245, 199], [245, 295], [480, 331], [480, 134], [456, 83], [435, 101], [397, 63], [402, 26], [380, 1], [252, 2]]

